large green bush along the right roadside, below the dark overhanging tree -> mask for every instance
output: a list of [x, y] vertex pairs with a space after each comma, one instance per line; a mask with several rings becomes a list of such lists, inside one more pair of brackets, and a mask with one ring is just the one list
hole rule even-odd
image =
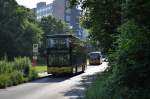
[[97, 78], [85, 99], [150, 99], [150, 33], [133, 20], [119, 32], [109, 72]]

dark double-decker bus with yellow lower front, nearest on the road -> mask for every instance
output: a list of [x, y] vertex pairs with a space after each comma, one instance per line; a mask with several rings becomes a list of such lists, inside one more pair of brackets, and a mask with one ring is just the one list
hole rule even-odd
[[47, 36], [48, 73], [76, 74], [87, 66], [85, 42], [69, 34]]

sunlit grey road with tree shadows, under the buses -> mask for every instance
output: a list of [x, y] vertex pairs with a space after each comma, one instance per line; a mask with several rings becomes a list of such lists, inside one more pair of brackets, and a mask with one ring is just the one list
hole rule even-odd
[[106, 69], [107, 63], [88, 66], [85, 73], [73, 77], [46, 77], [18, 86], [0, 89], [0, 99], [77, 99], [83, 97], [85, 86], [97, 72]]

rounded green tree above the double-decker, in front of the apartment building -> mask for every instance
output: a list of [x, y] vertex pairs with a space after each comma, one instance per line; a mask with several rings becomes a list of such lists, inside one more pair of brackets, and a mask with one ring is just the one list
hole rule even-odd
[[73, 34], [73, 31], [69, 26], [61, 20], [57, 20], [52, 16], [44, 17], [41, 19], [41, 27], [44, 30], [43, 44], [41, 51], [43, 52], [46, 48], [46, 35], [52, 34]]

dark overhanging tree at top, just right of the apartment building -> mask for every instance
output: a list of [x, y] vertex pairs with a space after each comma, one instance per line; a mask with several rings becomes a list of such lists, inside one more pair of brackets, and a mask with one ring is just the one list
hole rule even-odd
[[113, 48], [113, 41], [121, 24], [119, 0], [71, 0], [71, 4], [81, 3], [84, 16], [82, 25], [89, 30], [93, 40], [99, 42], [104, 53]]

